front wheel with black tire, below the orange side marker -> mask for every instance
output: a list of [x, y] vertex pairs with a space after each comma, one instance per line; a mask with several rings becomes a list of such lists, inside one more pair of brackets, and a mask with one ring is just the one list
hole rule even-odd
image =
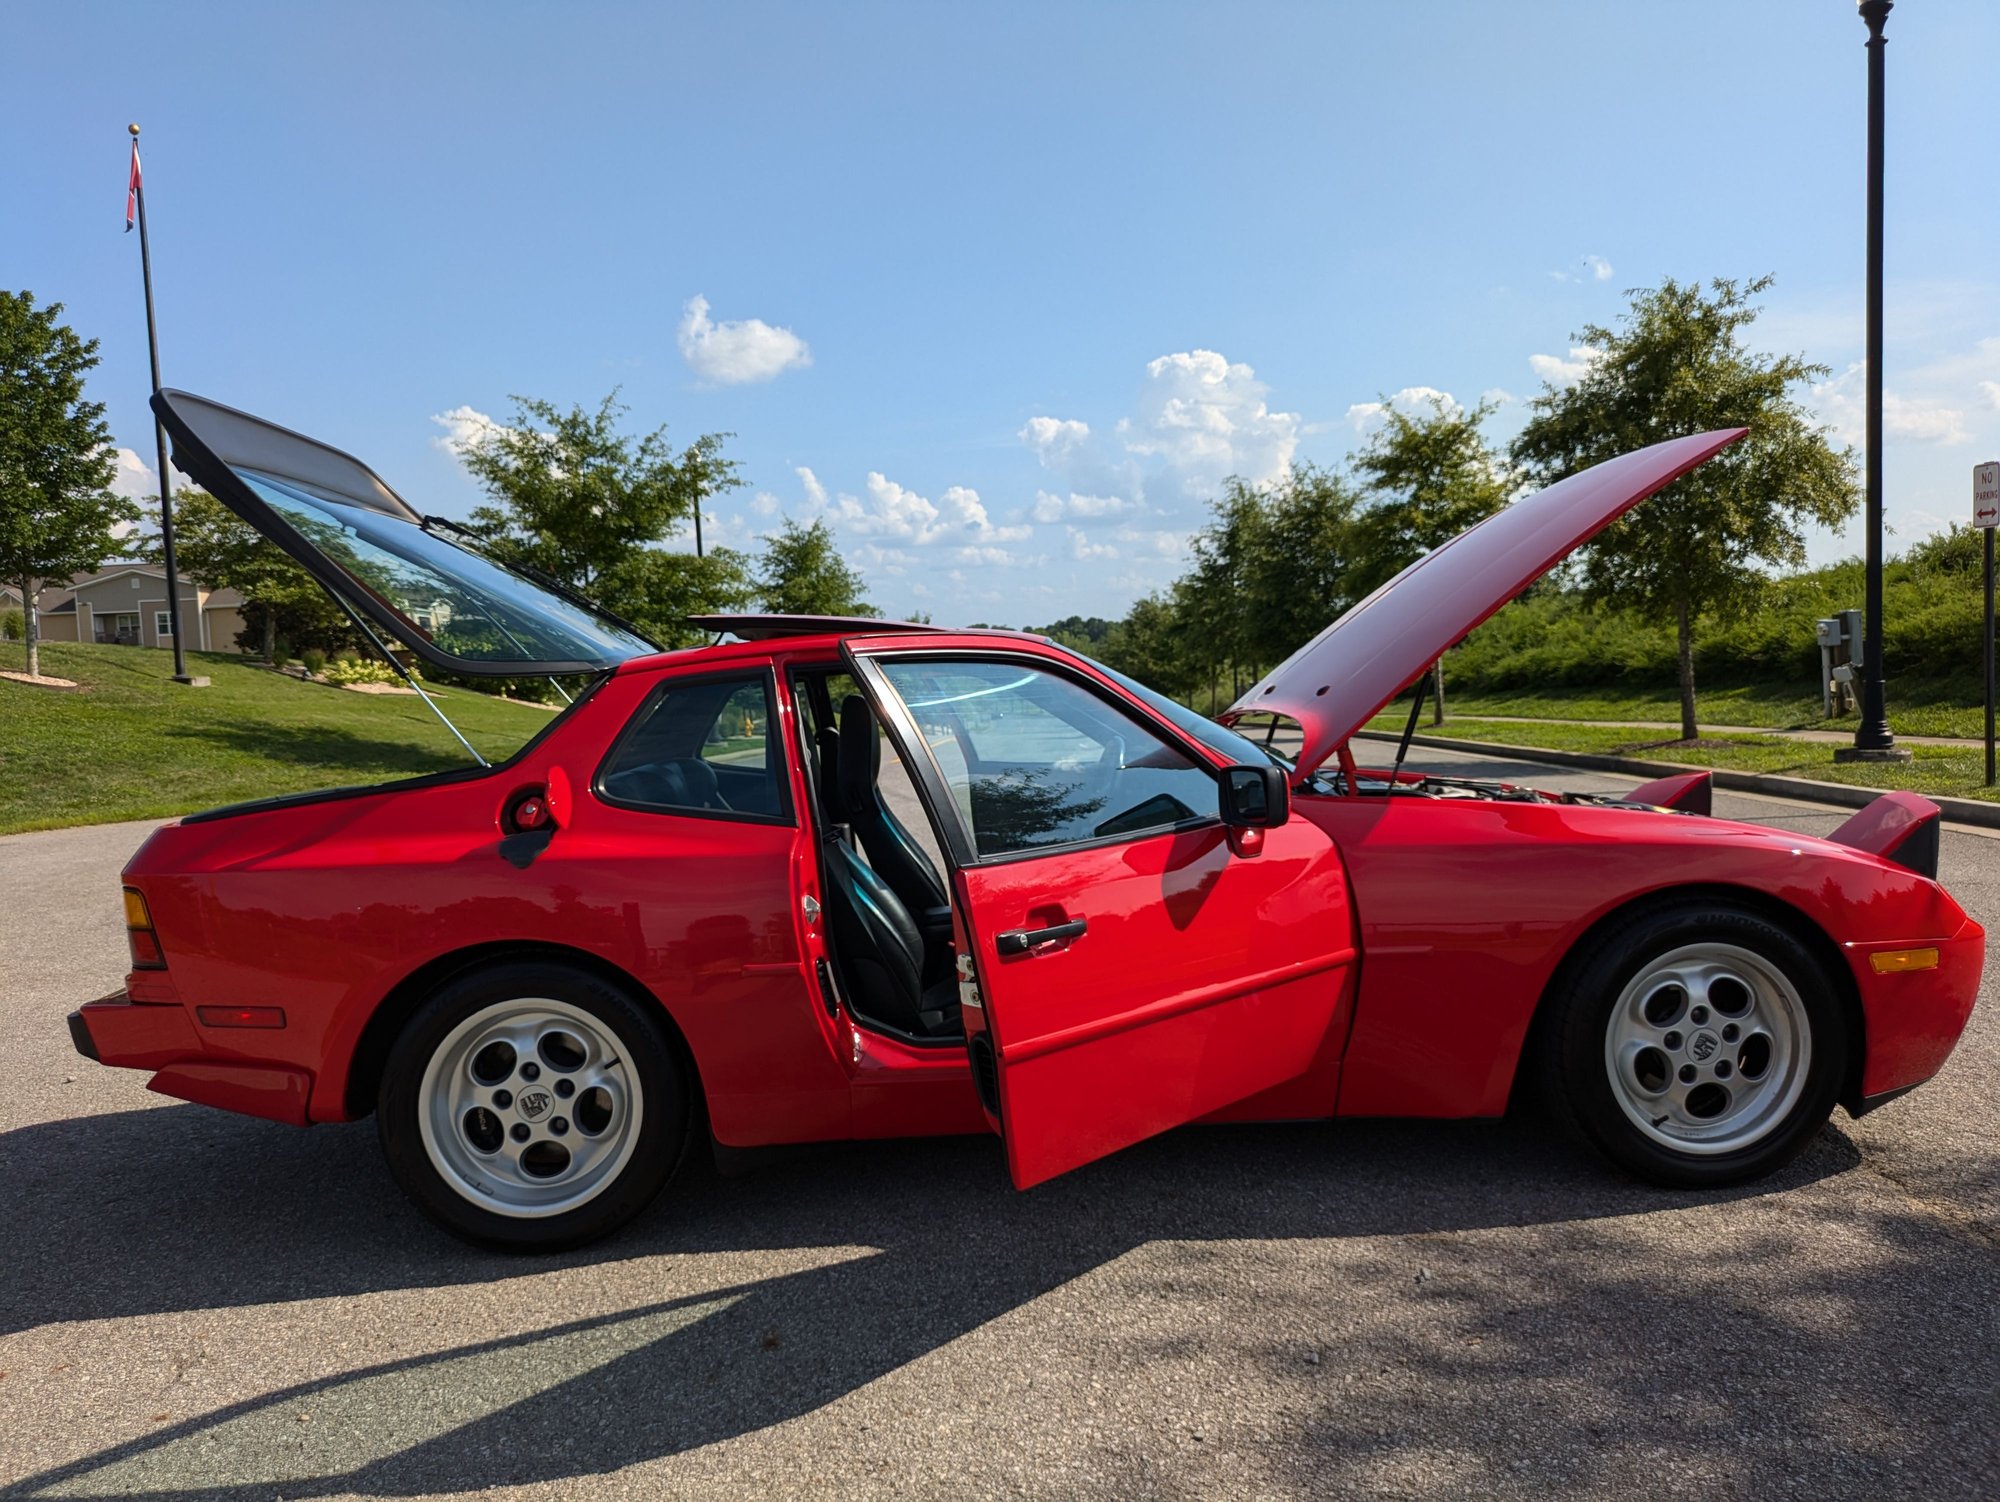
[[1592, 940], [1550, 998], [1556, 1114], [1658, 1184], [1740, 1184], [1832, 1114], [1848, 1036], [1834, 978], [1778, 924], [1722, 904], [1642, 914]]

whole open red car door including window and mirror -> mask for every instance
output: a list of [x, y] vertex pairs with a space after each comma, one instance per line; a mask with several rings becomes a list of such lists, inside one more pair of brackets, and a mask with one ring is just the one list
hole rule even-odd
[[846, 654], [950, 856], [966, 1048], [1016, 1186], [1338, 1054], [1356, 950], [1318, 826], [1234, 854], [1218, 752], [1062, 658], [908, 636]]

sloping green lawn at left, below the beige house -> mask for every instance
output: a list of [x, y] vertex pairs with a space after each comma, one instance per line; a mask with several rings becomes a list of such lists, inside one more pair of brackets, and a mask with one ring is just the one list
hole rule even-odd
[[[24, 668], [18, 642], [0, 668]], [[0, 834], [166, 818], [274, 792], [382, 782], [466, 766], [464, 748], [414, 696], [354, 694], [190, 652], [210, 688], [168, 682], [172, 652], [42, 646], [42, 672], [80, 688], [0, 678]], [[440, 692], [466, 740], [498, 762], [550, 712], [462, 688]]]

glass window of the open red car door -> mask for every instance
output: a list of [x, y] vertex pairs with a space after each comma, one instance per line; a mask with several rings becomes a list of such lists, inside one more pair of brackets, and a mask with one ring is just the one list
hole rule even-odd
[[1018, 662], [884, 658], [982, 856], [1214, 818], [1216, 780], [1088, 688]]

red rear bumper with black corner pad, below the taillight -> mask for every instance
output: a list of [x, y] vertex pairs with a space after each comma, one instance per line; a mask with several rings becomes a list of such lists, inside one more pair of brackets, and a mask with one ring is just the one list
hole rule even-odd
[[148, 1090], [202, 1106], [306, 1126], [312, 1076], [208, 1052], [184, 1006], [134, 1002], [114, 992], [70, 1012], [70, 1042], [98, 1064], [154, 1070]]

